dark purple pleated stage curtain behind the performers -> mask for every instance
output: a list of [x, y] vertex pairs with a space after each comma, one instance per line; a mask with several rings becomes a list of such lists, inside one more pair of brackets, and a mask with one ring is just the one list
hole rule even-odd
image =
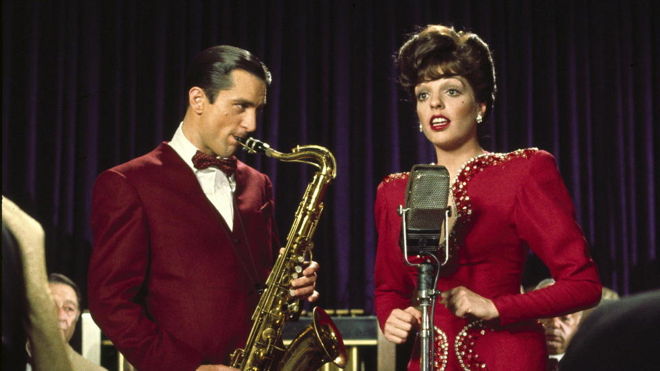
[[[254, 137], [281, 151], [319, 144], [338, 160], [315, 236], [320, 305], [369, 313], [376, 186], [434, 161], [393, 55], [415, 25], [452, 24], [494, 52], [483, 146], [553, 153], [604, 284], [642, 291], [659, 271], [658, 14], [651, 0], [5, 0], [3, 194], [43, 223], [49, 271], [85, 291], [94, 179], [170, 139], [197, 52], [244, 47], [274, 76]], [[314, 169], [240, 157], [272, 178], [285, 236]]]

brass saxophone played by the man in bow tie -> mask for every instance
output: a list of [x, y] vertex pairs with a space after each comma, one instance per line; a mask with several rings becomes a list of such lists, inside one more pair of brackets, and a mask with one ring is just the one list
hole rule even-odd
[[337, 326], [320, 307], [314, 308], [312, 323], [287, 348], [282, 345], [285, 322], [297, 319], [301, 310], [300, 300], [289, 293], [289, 282], [300, 276], [306, 258], [311, 260], [314, 247], [311, 237], [323, 210], [321, 199], [325, 188], [336, 177], [335, 157], [321, 146], [296, 146], [291, 153], [280, 153], [253, 138], [236, 139], [248, 153], [264, 153], [281, 161], [311, 164], [318, 168], [318, 172], [307, 185], [284, 252], [278, 256], [266, 280], [266, 289], [252, 314], [248, 342], [245, 348], [232, 352], [230, 366], [249, 371], [309, 371], [333, 362], [344, 368], [347, 363], [344, 342]]

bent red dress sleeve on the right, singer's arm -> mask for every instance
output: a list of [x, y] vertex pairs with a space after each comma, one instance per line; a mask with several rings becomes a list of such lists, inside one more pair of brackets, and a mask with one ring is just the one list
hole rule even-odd
[[516, 194], [513, 221], [519, 238], [545, 262], [556, 283], [494, 298], [503, 325], [592, 306], [601, 294], [595, 263], [553, 157], [539, 151], [530, 161]]

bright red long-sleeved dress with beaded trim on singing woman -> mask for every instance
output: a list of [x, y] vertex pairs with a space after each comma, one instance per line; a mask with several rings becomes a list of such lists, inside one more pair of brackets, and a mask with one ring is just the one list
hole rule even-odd
[[[375, 308], [381, 328], [393, 309], [412, 305], [416, 295], [417, 269], [406, 265], [399, 247], [397, 207], [405, 203], [407, 180], [408, 173], [389, 175], [377, 190]], [[544, 370], [547, 350], [536, 319], [592, 306], [601, 295], [554, 158], [536, 148], [484, 153], [461, 168], [452, 198], [453, 247], [437, 288], [465, 286], [491, 299], [500, 317], [487, 323], [463, 319], [438, 301], [435, 369]], [[521, 294], [528, 249], [545, 262], [556, 283]], [[408, 369], [419, 369], [417, 346]]]

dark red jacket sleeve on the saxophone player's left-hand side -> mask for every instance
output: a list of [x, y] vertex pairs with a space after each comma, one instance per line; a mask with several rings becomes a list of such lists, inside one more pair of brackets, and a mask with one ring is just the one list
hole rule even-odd
[[94, 186], [89, 308], [94, 320], [139, 370], [195, 370], [201, 355], [146, 313], [149, 229], [144, 207], [125, 177], [104, 172]]

